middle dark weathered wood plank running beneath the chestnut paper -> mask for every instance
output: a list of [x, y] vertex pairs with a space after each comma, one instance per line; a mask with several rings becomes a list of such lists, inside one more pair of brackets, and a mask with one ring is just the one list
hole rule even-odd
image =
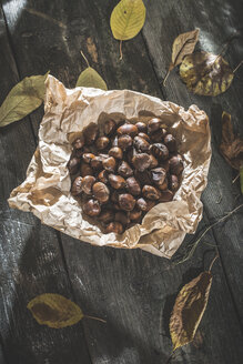
[[[90, 38], [94, 46], [92, 51], [90, 48], [89, 59], [93, 58], [93, 65], [109, 88], [160, 95], [140, 36], [124, 44], [124, 62], [118, 60], [118, 42], [109, 29], [114, 3], [104, 0], [71, 4], [28, 2], [29, 8], [48, 13], [68, 28], [64, 33], [57, 26], [22, 12], [11, 31], [21, 75], [43, 73], [51, 64], [54, 75], [67, 85], [74, 85], [81, 70], [79, 50], [88, 50]], [[28, 32], [31, 34], [26, 37]], [[38, 118], [32, 118], [36, 130]], [[209, 247], [201, 245], [192, 262], [173, 267], [170, 262], [142, 251], [99, 249], [68, 236], [62, 236], [62, 241], [77, 302], [84, 313], [108, 320], [107, 325], [84, 322], [92, 362], [164, 363], [171, 352], [166, 327], [174, 296], [182, 284], [203, 269], [202, 256], [205, 255], [205, 267], [209, 266], [213, 255], [206, 254]], [[215, 243], [213, 235], [210, 241]], [[196, 341], [181, 351], [178, 363], [237, 363], [243, 354], [237, 317], [219, 263], [214, 274], [209, 307]], [[231, 333], [230, 337], [225, 331]]]

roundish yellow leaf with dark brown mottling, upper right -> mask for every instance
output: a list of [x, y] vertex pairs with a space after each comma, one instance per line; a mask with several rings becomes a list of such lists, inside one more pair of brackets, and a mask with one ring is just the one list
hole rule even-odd
[[193, 93], [216, 97], [231, 85], [234, 73], [221, 57], [209, 52], [186, 55], [180, 67], [180, 75]]

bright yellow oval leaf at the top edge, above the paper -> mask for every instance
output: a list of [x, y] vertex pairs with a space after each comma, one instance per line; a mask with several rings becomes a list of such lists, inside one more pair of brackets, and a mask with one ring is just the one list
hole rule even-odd
[[145, 21], [146, 9], [142, 0], [121, 0], [111, 13], [112, 34], [118, 40], [135, 37]]

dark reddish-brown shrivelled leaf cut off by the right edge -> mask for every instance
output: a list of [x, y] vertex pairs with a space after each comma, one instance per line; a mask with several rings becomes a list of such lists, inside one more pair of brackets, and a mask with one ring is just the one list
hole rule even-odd
[[231, 114], [225, 111], [222, 114], [222, 140], [220, 151], [231, 166], [235, 170], [242, 168], [243, 140], [234, 135]]

